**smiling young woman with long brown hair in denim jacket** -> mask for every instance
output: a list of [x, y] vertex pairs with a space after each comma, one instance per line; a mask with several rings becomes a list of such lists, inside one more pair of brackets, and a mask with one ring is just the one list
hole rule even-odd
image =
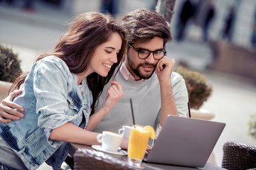
[[[89, 12], [76, 17], [53, 52], [39, 56], [31, 72], [14, 82], [12, 89], [22, 91], [14, 103], [26, 116], [0, 123], [0, 165], [37, 169], [46, 162], [60, 169], [69, 142], [98, 144], [97, 133], [90, 130], [123, 94], [110, 78], [126, 47], [126, 31], [109, 15]], [[105, 103], [94, 113], [95, 101], [109, 81]]]

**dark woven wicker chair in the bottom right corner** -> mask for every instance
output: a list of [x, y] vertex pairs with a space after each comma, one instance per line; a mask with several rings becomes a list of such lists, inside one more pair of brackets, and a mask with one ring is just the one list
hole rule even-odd
[[256, 168], [256, 147], [240, 142], [225, 142], [222, 167], [229, 170]]

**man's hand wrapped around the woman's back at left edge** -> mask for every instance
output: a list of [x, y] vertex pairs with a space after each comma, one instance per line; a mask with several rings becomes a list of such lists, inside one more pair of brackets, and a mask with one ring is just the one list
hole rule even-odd
[[[14, 101], [14, 97], [21, 93], [21, 90], [15, 90], [9, 94], [3, 101], [0, 103], [0, 123], [9, 123], [11, 120], [20, 120], [24, 117], [23, 112], [24, 108], [19, 106], [18, 104], [12, 102]], [[16, 108], [14, 110], [13, 108]]]

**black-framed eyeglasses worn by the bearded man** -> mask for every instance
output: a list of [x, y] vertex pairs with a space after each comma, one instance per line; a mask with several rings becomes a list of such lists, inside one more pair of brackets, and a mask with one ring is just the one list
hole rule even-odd
[[[129, 47], [132, 47], [132, 45], [129, 45]], [[155, 60], [160, 60], [164, 57], [164, 55], [166, 55], [166, 51], [164, 50], [149, 51], [149, 50], [139, 49], [134, 47], [132, 48], [138, 52], [138, 57], [140, 59], [146, 59], [147, 57], [149, 57], [151, 52], [153, 53], [153, 57]]]

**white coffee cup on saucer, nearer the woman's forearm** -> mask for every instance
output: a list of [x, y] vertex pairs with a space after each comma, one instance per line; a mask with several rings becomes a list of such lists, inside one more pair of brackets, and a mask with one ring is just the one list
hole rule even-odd
[[122, 138], [122, 135], [119, 135], [118, 133], [103, 131], [102, 134], [97, 135], [97, 142], [102, 143], [103, 149], [117, 152], [121, 145]]

